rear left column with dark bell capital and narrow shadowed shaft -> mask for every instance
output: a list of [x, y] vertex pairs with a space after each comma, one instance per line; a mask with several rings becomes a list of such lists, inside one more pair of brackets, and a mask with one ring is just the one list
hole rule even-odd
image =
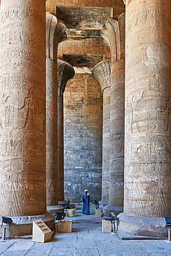
[[57, 199], [64, 201], [64, 90], [73, 78], [73, 66], [57, 60]]

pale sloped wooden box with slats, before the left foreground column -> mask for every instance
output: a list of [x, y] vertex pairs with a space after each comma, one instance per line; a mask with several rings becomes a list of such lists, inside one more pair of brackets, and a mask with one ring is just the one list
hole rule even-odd
[[51, 229], [46, 226], [42, 219], [33, 220], [33, 241], [44, 243], [51, 241]]

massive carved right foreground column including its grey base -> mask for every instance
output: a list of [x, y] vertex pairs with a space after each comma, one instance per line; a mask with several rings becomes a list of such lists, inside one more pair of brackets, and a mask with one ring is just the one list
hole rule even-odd
[[120, 230], [163, 236], [171, 215], [170, 0], [126, 1], [125, 201]]

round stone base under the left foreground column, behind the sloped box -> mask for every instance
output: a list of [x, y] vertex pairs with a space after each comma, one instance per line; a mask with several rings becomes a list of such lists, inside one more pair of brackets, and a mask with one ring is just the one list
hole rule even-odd
[[[14, 223], [10, 228], [6, 228], [6, 237], [23, 236], [33, 234], [33, 219], [42, 219], [44, 223], [52, 231], [55, 230], [55, 224], [53, 221], [53, 214], [46, 213], [37, 216], [22, 216], [22, 217], [10, 217]], [[2, 218], [0, 217], [0, 223]], [[0, 226], [0, 235], [3, 234], [3, 228]]]

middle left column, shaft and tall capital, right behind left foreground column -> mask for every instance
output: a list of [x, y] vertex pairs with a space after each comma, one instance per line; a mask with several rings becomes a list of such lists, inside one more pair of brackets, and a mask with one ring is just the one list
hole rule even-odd
[[57, 205], [57, 46], [66, 26], [46, 13], [46, 203]]

